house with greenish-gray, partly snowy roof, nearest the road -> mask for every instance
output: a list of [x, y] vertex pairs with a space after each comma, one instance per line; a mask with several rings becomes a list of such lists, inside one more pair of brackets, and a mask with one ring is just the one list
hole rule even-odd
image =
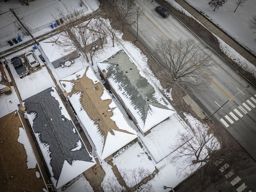
[[142, 133], [175, 113], [166, 98], [140, 75], [123, 50], [97, 65], [106, 84]]

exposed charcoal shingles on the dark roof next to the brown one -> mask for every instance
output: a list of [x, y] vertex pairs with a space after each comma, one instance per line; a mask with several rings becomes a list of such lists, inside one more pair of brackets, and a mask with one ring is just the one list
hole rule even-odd
[[62, 115], [59, 102], [52, 97], [51, 92], [52, 88], [48, 88], [23, 102], [27, 114], [36, 114], [32, 124], [34, 133], [40, 133], [40, 142], [50, 146], [53, 177], [58, 183], [65, 160], [70, 165], [74, 160], [93, 161], [83, 143], [79, 150], [71, 151], [76, 148], [76, 142], [82, 142], [82, 139], [74, 131], [72, 121]]

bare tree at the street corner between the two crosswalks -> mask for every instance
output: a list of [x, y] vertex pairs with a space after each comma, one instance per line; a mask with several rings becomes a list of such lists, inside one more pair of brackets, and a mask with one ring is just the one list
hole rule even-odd
[[223, 132], [210, 130], [207, 124], [199, 121], [186, 131], [178, 132], [177, 142], [171, 147], [174, 150], [171, 162], [177, 165], [178, 174], [188, 176], [202, 167], [212, 172], [213, 167], [221, 168], [226, 163], [239, 166], [240, 148], [225, 137]]

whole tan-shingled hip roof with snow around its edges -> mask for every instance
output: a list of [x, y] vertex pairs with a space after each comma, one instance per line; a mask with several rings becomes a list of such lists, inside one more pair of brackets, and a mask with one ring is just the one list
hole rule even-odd
[[89, 66], [60, 80], [60, 83], [69, 94], [69, 100], [101, 160], [137, 138], [136, 131]]

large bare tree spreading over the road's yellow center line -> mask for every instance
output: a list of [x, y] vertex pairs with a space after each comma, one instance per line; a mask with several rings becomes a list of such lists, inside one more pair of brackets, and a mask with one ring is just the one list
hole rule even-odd
[[201, 44], [192, 39], [173, 42], [161, 38], [156, 43], [155, 52], [166, 66], [171, 76], [170, 82], [176, 80], [192, 84], [193, 82], [186, 82], [187, 77], [198, 78], [204, 82], [211, 57], [204, 52]]

